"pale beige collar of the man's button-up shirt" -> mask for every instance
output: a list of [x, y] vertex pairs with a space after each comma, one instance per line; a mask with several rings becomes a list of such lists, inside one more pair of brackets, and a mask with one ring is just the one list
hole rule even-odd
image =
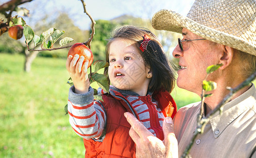
[[244, 92], [242, 95], [225, 104], [223, 106], [223, 112], [221, 115], [218, 112], [214, 114], [210, 120], [210, 123], [215, 138], [218, 137], [225, 130], [225, 128], [235, 120], [235, 118], [240, 116], [248, 108], [251, 108], [252, 104], [248, 104], [252, 102], [250, 101], [252, 100], [252, 97], [250, 96], [256, 96], [254, 84], [252, 84], [249, 90]]

